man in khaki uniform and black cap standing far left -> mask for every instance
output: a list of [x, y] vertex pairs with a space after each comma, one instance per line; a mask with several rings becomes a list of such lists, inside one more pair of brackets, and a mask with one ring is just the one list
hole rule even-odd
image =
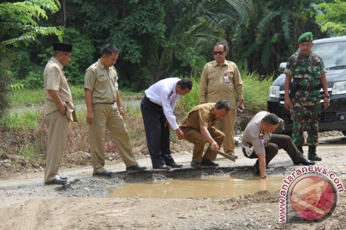
[[45, 116], [48, 129], [45, 184], [65, 184], [58, 171], [66, 147], [70, 120], [73, 121], [72, 94], [63, 71], [71, 61], [72, 44], [53, 43], [53, 57], [44, 70]]

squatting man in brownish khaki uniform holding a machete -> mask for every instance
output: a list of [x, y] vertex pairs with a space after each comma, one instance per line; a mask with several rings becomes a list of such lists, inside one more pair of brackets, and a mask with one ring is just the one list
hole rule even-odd
[[[217, 150], [225, 139], [225, 134], [215, 128], [218, 120], [227, 116], [231, 106], [228, 101], [200, 104], [190, 110], [180, 122], [179, 128], [184, 133], [185, 140], [194, 144], [191, 167], [219, 166], [214, 163]], [[204, 152], [204, 144], [209, 147]]]

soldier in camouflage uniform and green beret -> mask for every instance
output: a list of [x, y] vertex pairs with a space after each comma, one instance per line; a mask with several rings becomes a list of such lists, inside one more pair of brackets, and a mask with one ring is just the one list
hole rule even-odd
[[[324, 106], [329, 106], [329, 94], [326, 79], [326, 69], [320, 56], [311, 52], [313, 46], [312, 33], [303, 33], [298, 39], [300, 51], [294, 53], [287, 61], [285, 79], [284, 107], [291, 112], [293, 121], [292, 140], [297, 148], [303, 152], [303, 131], [308, 133], [308, 159], [320, 161], [316, 154], [318, 145], [318, 121], [320, 118], [320, 88], [322, 86], [325, 97]], [[289, 96], [291, 79], [297, 81], [297, 90]]]

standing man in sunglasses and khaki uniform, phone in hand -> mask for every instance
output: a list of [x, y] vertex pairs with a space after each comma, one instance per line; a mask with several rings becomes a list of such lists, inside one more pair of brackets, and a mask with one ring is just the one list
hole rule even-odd
[[[225, 134], [223, 143], [224, 152], [234, 158], [238, 156], [234, 153], [234, 124], [237, 119], [237, 108], [244, 110], [243, 81], [237, 65], [227, 61], [227, 46], [224, 42], [217, 42], [214, 45], [215, 61], [207, 63], [201, 75], [200, 81], [200, 102], [210, 103], [227, 100], [231, 109], [227, 116], [221, 119], [222, 132]], [[234, 94], [237, 93], [238, 104], [236, 104]], [[216, 127], [220, 127], [219, 121]]]

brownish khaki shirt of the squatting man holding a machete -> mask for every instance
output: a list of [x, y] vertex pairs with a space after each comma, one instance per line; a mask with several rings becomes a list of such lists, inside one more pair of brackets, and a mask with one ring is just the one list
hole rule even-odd
[[213, 111], [215, 104], [216, 103], [200, 104], [192, 108], [179, 123], [179, 126], [190, 127], [198, 131], [201, 131], [201, 126], [207, 127], [208, 129], [215, 126], [217, 121]]

